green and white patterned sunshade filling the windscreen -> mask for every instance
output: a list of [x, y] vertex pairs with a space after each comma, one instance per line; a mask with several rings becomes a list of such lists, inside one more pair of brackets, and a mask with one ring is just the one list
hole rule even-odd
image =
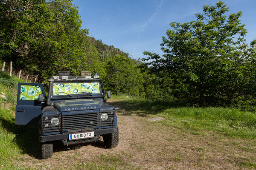
[[53, 83], [52, 96], [78, 94], [81, 92], [90, 92], [91, 94], [99, 94], [99, 82], [73, 82], [73, 83]]

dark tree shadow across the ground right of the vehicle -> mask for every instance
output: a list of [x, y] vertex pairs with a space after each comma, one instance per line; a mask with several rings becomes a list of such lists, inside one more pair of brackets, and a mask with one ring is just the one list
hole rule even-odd
[[181, 108], [185, 107], [184, 103], [177, 103], [171, 101], [149, 101], [149, 100], [122, 100], [112, 101], [108, 104], [113, 105], [115, 108], [123, 109], [124, 111], [118, 111], [121, 115], [129, 116], [135, 114], [141, 117], [147, 117], [148, 114], [158, 114], [169, 108]]

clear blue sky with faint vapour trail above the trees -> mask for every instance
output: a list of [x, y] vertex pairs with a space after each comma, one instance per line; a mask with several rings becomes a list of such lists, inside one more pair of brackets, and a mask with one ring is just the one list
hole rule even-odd
[[[79, 7], [82, 28], [103, 43], [114, 45], [134, 58], [143, 58], [143, 51], [162, 55], [160, 43], [169, 23], [196, 20], [204, 5], [216, 0], [73, 0]], [[226, 0], [229, 12], [242, 11], [245, 39], [256, 38], [256, 0]]]

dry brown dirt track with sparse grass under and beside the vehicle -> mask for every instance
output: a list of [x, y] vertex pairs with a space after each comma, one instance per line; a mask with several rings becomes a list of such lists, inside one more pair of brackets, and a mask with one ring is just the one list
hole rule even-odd
[[40, 160], [25, 155], [21, 164], [36, 169], [69, 169], [75, 164], [94, 162], [103, 154], [125, 163], [126, 167], [120, 164], [117, 169], [252, 169], [244, 162], [255, 160], [256, 146], [251, 146], [255, 141], [239, 139], [234, 144], [234, 139], [212, 132], [204, 132], [204, 135], [186, 133], [149, 122], [147, 117], [122, 108], [120, 102], [112, 100], [109, 103], [117, 108], [120, 140], [116, 148], [105, 149], [102, 141], [56, 147], [50, 159]]

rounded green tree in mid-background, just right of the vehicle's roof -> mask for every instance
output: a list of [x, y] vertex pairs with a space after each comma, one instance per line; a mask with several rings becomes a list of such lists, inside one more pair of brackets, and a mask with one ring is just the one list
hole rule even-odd
[[105, 86], [114, 94], [142, 95], [143, 77], [134, 61], [124, 56], [113, 56], [106, 63]]

